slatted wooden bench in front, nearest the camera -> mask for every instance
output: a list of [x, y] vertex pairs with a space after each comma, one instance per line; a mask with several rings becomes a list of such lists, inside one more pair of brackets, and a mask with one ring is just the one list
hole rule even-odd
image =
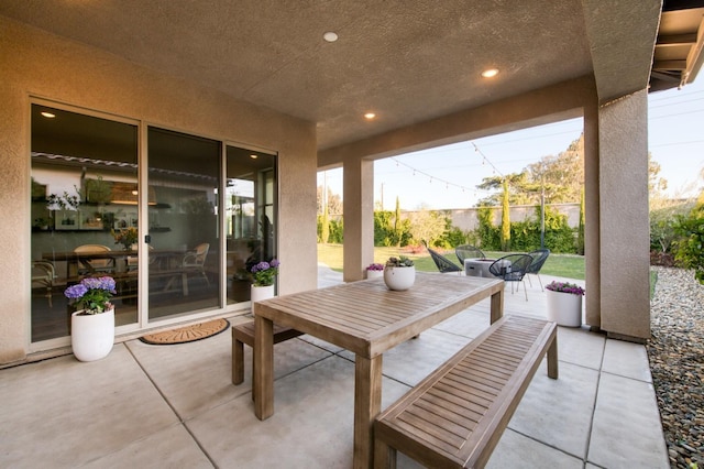
[[484, 467], [546, 353], [557, 379], [554, 323], [497, 320], [378, 415], [374, 467], [396, 467], [397, 450], [427, 467]]

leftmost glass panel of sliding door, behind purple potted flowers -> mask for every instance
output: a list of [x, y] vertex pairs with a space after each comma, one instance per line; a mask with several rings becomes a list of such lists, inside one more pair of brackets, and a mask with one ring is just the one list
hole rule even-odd
[[33, 103], [31, 159], [32, 341], [68, 336], [86, 276], [113, 276], [116, 325], [136, 323], [138, 126]]

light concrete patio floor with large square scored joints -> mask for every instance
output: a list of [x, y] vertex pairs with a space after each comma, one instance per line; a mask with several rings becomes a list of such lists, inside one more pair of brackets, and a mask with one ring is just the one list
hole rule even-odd
[[[320, 286], [340, 281], [320, 269]], [[528, 301], [507, 285], [505, 314], [546, 317], [535, 276], [527, 287]], [[387, 352], [383, 406], [487, 326], [488, 299]], [[645, 347], [586, 328], [560, 327], [558, 342], [559, 380], [541, 366], [487, 467], [668, 468]], [[277, 345], [276, 412], [260, 422], [251, 349], [234, 386], [230, 346], [229, 330], [177, 346], [130, 340], [96, 362], [0, 370], [0, 467], [350, 468], [354, 357], [310, 336]], [[398, 467], [419, 466], [399, 454]]]

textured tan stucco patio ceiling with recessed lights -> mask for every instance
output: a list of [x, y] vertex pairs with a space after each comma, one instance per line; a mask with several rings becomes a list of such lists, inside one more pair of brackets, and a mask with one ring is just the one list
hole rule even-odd
[[585, 75], [603, 101], [642, 89], [660, 2], [3, 0], [0, 14], [316, 122], [328, 149]]

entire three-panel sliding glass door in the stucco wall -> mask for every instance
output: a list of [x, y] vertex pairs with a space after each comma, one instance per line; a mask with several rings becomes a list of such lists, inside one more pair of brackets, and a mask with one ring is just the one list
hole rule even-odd
[[32, 105], [32, 342], [70, 334], [81, 279], [112, 276], [116, 326], [138, 330], [237, 309], [277, 255], [275, 154], [140, 126]]

